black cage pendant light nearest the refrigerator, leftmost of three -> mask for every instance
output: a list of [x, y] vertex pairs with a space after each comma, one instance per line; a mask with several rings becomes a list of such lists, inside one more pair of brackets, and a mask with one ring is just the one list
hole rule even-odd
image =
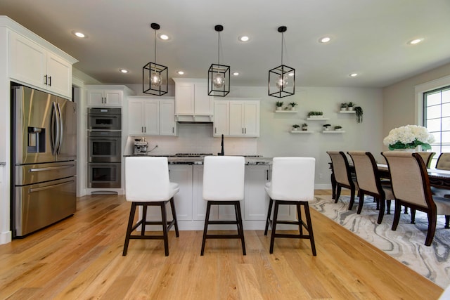
[[160, 25], [151, 23], [150, 27], [155, 30], [155, 63], [150, 62], [142, 67], [142, 92], [162, 96], [169, 87], [168, 70], [165, 65], [156, 63], [156, 30], [160, 29]]

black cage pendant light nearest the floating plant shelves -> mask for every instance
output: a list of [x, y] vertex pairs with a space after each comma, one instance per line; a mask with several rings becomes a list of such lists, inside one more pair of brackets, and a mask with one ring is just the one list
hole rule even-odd
[[286, 30], [288, 27], [278, 27], [278, 32], [281, 32], [281, 65], [269, 70], [269, 96], [276, 98], [295, 94], [295, 69], [283, 65], [283, 41]]

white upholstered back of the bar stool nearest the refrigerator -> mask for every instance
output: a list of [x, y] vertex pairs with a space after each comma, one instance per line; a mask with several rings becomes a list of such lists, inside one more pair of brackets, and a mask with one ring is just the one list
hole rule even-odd
[[130, 202], [169, 200], [167, 157], [125, 157], [125, 197]]

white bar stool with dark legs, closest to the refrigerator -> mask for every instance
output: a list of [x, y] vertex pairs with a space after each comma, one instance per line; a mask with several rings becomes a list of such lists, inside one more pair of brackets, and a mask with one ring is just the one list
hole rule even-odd
[[[124, 252], [127, 255], [129, 240], [164, 240], [165, 255], [169, 255], [168, 231], [175, 226], [179, 237], [174, 195], [179, 192], [178, 183], [169, 181], [167, 157], [126, 157], [125, 158], [125, 197], [131, 202]], [[167, 221], [166, 204], [170, 202], [172, 221]], [[136, 207], [142, 207], [142, 219], [134, 226]], [[160, 207], [161, 221], [147, 221], [147, 207]], [[161, 225], [162, 235], [146, 235], [146, 225]], [[131, 233], [141, 226], [140, 235]]]

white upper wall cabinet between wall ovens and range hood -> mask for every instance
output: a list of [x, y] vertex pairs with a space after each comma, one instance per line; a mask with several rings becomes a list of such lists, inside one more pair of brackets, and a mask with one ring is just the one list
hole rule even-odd
[[176, 136], [174, 98], [128, 97], [130, 136]]

